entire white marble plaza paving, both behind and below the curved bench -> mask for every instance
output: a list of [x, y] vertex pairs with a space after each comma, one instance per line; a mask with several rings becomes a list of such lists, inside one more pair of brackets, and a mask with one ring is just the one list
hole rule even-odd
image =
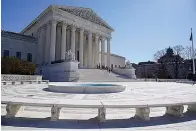
[[[35, 102], [58, 99], [62, 102], [74, 100], [73, 104], [78, 104], [77, 102], [80, 100], [84, 100], [85, 104], [91, 103], [88, 103], [88, 100], [104, 101], [105, 103], [122, 101], [126, 104], [128, 101], [150, 102], [155, 100], [160, 103], [167, 103], [167, 100], [173, 101], [175, 99], [188, 101], [194, 100], [196, 94], [196, 86], [190, 84], [159, 82], [118, 82], [118, 84], [126, 85], [126, 90], [110, 94], [66, 94], [44, 91], [43, 89], [47, 88], [45, 84], [2, 85], [2, 97], [34, 99]], [[106, 108], [106, 122], [98, 124], [91, 119], [97, 116], [97, 109], [62, 108], [60, 120], [50, 122], [46, 118], [50, 116], [51, 108], [26, 106], [18, 112], [16, 119], [7, 120], [3, 117], [6, 112], [5, 105], [2, 105], [2, 129], [196, 130], [196, 113], [189, 114], [186, 112], [186, 108], [187, 106], [185, 106], [182, 118], [163, 116], [165, 113], [163, 107], [151, 108], [149, 122], [132, 118], [135, 114], [133, 108]]]

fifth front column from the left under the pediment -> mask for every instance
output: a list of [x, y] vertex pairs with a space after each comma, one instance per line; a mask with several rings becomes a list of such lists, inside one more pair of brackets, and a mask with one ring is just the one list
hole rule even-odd
[[92, 67], [92, 32], [88, 32], [88, 67]]

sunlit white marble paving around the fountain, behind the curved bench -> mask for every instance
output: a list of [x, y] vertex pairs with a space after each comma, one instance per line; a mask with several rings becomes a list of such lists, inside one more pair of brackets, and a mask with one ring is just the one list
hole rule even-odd
[[[58, 85], [69, 84], [86, 84], [96, 82], [55, 82]], [[106, 83], [106, 82], [99, 82]], [[17, 85], [2, 85], [2, 96], [14, 96], [33, 99], [78, 99], [78, 100], [101, 100], [101, 101], [116, 101], [116, 100], [190, 100], [194, 101], [196, 94], [196, 85], [182, 83], [160, 83], [160, 82], [107, 82], [111, 84], [120, 84], [126, 86], [125, 91], [109, 94], [72, 94], [72, 93], [54, 93], [47, 90], [46, 84], [17, 84]], [[49, 83], [54, 84], [54, 83]]]

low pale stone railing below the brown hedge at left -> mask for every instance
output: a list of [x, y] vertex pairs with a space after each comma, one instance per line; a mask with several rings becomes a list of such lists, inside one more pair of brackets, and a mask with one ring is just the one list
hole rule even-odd
[[23, 81], [23, 80], [42, 80], [42, 76], [1, 74], [1, 81]]

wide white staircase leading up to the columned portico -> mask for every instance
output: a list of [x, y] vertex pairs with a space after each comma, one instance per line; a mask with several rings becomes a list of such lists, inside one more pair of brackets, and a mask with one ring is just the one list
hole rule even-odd
[[107, 70], [100, 69], [78, 69], [80, 74], [79, 82], [123, 82], [123, 81], [132, 81], [132, 79], [125, 76], [120, 76], [112, 72], [107, 72]]

